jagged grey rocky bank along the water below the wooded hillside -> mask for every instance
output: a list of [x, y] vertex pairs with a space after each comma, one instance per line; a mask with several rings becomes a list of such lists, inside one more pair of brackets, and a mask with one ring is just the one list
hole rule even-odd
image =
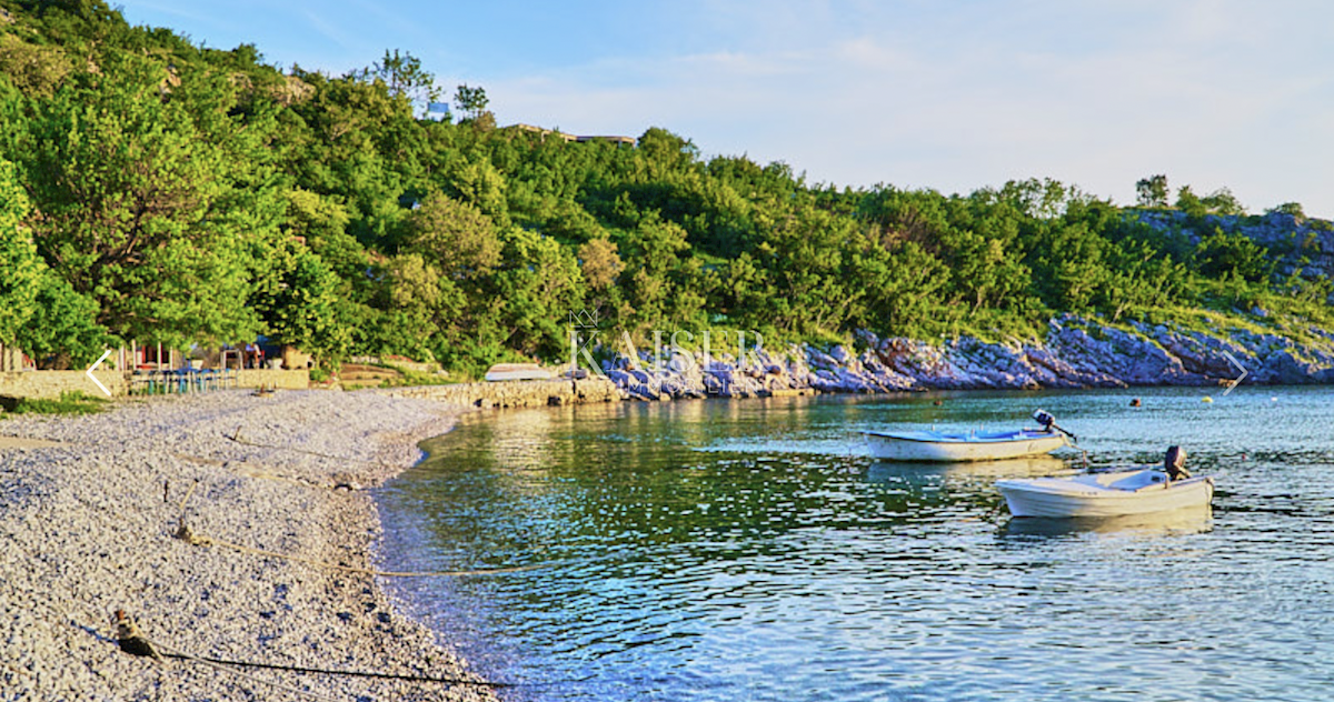
[[[1309, 329], [1307, 342], [1254, 329], [1210, 333], [1131, 322], [1122, 326], [1066, 314], [1050, 321], [1042, 342], [942, 344], [879, 338], [862, 332], [851, 346], [747, 350], [747, 358], [699, 352], [644, 353], [603, 362], [627, 397], [754, 397], [916, 390], [1126, 388], [1334, 382], [1334, 333]], [[1245, 376], [1243, 376], [1245, 370]]]

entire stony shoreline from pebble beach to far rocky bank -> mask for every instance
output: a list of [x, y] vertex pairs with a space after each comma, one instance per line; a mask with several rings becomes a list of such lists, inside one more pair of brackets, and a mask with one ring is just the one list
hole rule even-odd
[[[0, 421], [0, 702], [494, 699], [376, 583], [367, 488], [420, 458], [462, 408], [814, 392], [1334, 382], [1334, 334], [1306, 342], [1065, 316], [1042, 342], [858, 334], [604, 361], [606, 377], [394, 392], [249, 390], [125, 400], [91, 417]], [[1238, 368], [1237, 362], [1241, 364]], [[188, 526], [189, 539], [179, 538]], [[209, 543], [211, 545], [205, 545]], [[233, 546], [243, 547], [233, 547]], [[284, 554], [287, 557], [275, 557]], [[125, 610], [165, 653], [320, 670], [155, 661], [120, 650]]]

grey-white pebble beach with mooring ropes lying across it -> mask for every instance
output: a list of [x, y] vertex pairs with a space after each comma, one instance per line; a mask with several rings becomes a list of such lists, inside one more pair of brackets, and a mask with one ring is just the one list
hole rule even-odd
[[[125, 610], [163, 653], [479, 681], [355, 570], [375, 565], [366, 488], [418, 461], [416, 441], [455, 412], [376, 392], [239, 390], [4, 420], [0, 699], [494, 698], [484, 685], [155, 661], [123, 653], [111, 623]], [[213, 545], [176, 538], [181, 522]]]

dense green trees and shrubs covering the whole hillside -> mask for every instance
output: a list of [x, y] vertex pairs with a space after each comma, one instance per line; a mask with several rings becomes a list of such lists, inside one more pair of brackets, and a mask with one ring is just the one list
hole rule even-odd
[[324, 364], [475, 372], [562, 357], [583, 309], [638, 338], [816, 341], [1035, 337], [1057, 312], [1331, 317], [1327, 277], [1285, 274], [1230, 193], [1170, 206], [1165, 176], [1133, 209], [1049, 180], [836, 189], [659, 128], [635, 145], [496, 128], [476, 87], [462, 121], [424, 119], [440, 92], [398, 51], [280, 72], [103, 0], [0, 8], [0, 342], [44, 358], [265, 334]]

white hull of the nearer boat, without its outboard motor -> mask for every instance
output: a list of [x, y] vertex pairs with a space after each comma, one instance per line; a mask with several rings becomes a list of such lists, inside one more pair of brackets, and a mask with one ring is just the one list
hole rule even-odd
[[1209, 477], [1162, 480], [1134, 489], [1081, 478], [1003, 480], [996, 488], [1015, 517], [1123, 517], [1199, 508], [1214, 498]]

